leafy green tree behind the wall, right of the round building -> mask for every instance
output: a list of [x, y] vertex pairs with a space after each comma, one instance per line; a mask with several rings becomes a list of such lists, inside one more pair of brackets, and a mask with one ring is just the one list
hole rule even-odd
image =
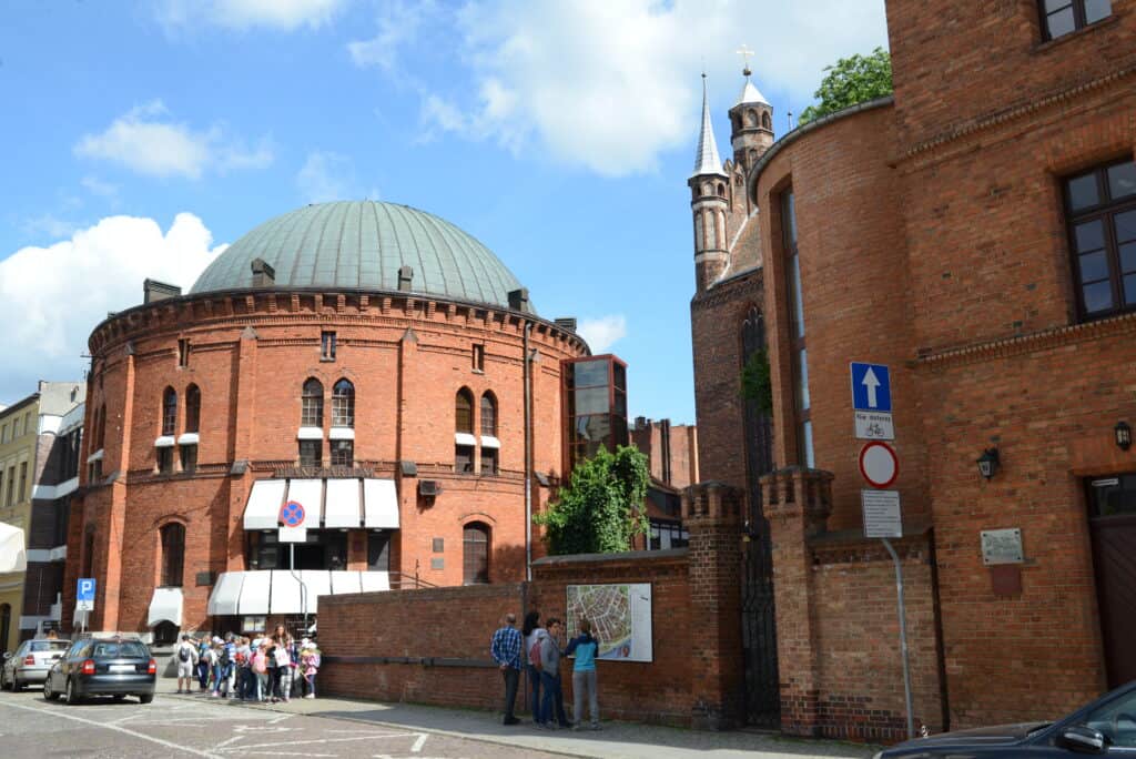
[[630, 445], [620, 445], [615, 454], [601, 449], [577, 464], [549, 510], [534, 517], [548, 528], [549, 552], [629, 551], [632, 537], [648, 529], [643, 499], [650, 481], [646, 456]]

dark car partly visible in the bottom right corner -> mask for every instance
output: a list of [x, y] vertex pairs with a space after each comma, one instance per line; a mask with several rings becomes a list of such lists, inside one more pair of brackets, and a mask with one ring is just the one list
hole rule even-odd
[[875, 759], [913, 757], [1071, 757], [1080, 753], [1136, 756], [1136, 681], [1105, 693], [1054, 723], [979, 727], [907, 741]]

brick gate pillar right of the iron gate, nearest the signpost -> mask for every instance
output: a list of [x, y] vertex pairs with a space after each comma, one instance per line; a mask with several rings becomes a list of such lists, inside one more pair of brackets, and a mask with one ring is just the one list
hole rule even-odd
[[761, 477], [772, 539], [782, 732], [819, 734], [820, 673], [813, 619], [812, 552], [833, 510], [833, 475], [788, 467]]

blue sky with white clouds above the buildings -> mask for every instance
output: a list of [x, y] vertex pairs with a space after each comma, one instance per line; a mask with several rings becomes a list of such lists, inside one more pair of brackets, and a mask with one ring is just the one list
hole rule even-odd
[[787, 112], [887, 47], [883, 0], [7, 0], [0, 406], [82, 378], [147, 277], [189, 290], [309, 202], [450, 220], [541, 316], [628, 362], [632, 417], [694, 422], [690, 195], [753, 81]]

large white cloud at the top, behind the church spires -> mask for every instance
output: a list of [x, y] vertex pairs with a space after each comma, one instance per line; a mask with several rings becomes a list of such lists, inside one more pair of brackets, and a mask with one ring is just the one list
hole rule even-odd
[[[826, 65], [887, 44], [883, 0], [493, 0], [443, 20], [456, 24], [475, 84], [424, 86], [428, 130], [513, 152], [537, 147], [605, 176], [650, 172], [662, 151], [693, 151], [699, 73], [707, 68], [720, 107], [741, 91], [743, 42], [758, 53], [758, 87], [790, 93], [797, 112]], [[356, 62], [391, 72], [412, 34], [376, 42], [370, 56], [352, 50]]]

